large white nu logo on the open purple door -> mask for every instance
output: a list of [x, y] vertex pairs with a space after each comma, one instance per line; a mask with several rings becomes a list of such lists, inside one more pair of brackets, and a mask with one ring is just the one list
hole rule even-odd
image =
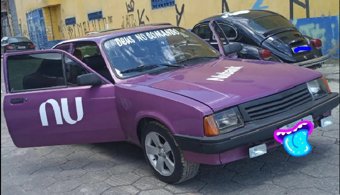
[[[84, 117], [82, 98], [76, 98], [76, 109], [77, 109], [77, 120], [73, 120], [68, 112], [67, 98], [62, 98], [62, 111], [63, 117], [68, 124], [75, 124]], [[40, 119], [42, 120], [43, 126], [48, 126], [47, 115], [46, 115], [46, 104], [49, 103], [53, 107], [54, 115], [56, 116], [56, 121], [58, 125], [63, 124], [62, 114], [60, 112], [60, 106], [58, 102], [54, 99], [48, 99], [40, 105], [39, 113]]]

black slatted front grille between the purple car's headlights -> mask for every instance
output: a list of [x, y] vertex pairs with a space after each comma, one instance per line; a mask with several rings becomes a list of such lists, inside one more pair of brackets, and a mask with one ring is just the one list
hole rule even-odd
[[306, 84], [289, 90], [240, 104], [239, 110], [245, 122], [271, 117], [311, 101]]

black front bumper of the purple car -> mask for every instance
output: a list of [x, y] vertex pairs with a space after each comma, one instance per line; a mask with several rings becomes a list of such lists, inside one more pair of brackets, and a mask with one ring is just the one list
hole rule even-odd
[[221, 154], [226, 151], [274, 138], [274, 132], [284, 125], [312, 115], [318, 118], [339, 105], [339, 93], [309, 101], [284, 113], [254, 120], [242, 129], [215, 137], [174, 135], [181, 150], [199, 154]]

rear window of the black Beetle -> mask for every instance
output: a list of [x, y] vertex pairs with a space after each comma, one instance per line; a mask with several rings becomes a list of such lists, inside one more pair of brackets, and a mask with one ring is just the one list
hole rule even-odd
[[249, 26], [257, 33], [265, 33], [280, 27], [295, 27], [282, 16], [265, 16], [249, 21]]

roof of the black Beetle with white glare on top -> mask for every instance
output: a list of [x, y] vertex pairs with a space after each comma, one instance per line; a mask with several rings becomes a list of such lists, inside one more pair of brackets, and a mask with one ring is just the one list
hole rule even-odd
[[275, 12], [268, 11], [268, 10], [241, 10], [241, 11], [234, 11], [234, 12], [225, 12], [222, 14], [216, 14], [204, 20], [201, 20], [199, 23], [209, 22], [210, 20], [253, 20], [258, 17], [263, 16], [274, 16], [279, 15]]

